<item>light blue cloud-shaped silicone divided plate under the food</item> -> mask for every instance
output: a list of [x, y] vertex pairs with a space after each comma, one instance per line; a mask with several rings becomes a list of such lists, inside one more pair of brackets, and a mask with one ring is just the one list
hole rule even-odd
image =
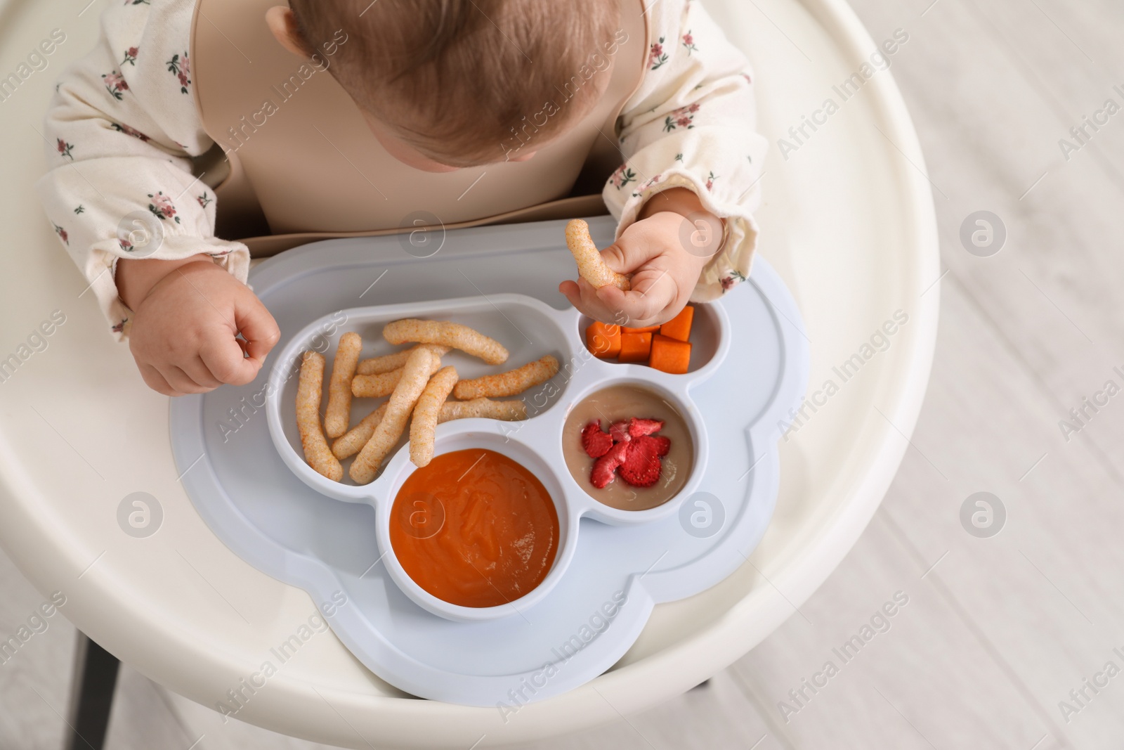
[[[800, 315], [780, 278], [759, 257], [745, 283], [697, 307], [686, 374], [581, 358], [587, 320], [556, 290], [574, 275], [563, 226], [437, 232], [413, 244], [408, 235], [336, 240], [270, 259], [250, 278], [281, 328], [266, 367], [250, 385], [172, 401], [175, 461], [207, 524], [251, 564], [306, 589], [363, 665], [413, 695], [517, 711], [581, 685], [625, 653], [655, 604], [697, 594], [744, 563], [772, 515], [780, 426], [808, 374]], [[611, 242], [613, 227], [608, 217], [590, 219], [598, 246]], [[387, 558], [380, 514], [413, 470], [408, 449], [388, 457], [374, 482], [356, 487], [309, 471], [299, 439], [292, 441], [296, 378], [284, 373], [300, 352], [318, 347], [330, 363], [339, 335], [357, 331], [363, 356], [386, 353], [381, 326], [402, 317], [479, 328], [510, 350], [500, 369], [546, 353], [580, 360], [552, 379], [554, 396], [525, 423], [437, 427], [437, 453], [506, 453], [561, 496], [549, 590], [487, 620], [456, 621], [419, 606]], [[462, 377], [481, 373], [455, 351], [443, 363]], [[689, 481], [652, 510], [599, 507], [559, 466], [569, 409], [618, 381], [665, 394], [696, 431]], [[352, 414], [354, 424], [365, 410]]]

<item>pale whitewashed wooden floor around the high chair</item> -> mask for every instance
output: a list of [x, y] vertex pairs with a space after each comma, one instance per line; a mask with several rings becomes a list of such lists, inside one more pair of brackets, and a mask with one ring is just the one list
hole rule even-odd
[[[1124, 387], [1124, 111], [1086, 126], [1084, 145], [1069, 134], [1106, 99], [1124, 106], [1124, 6], [853, 4], [874, 39], [909, 34], [891, 70], [925, 150], [948, 269], [912, 448], [803, 616], [669, 705], [536, 747], [1093, 750], [1124, 738], [1124, 395], [1096, 395]], [[1067, 159], [1060, 138], [1081, 147]], [[997, 255], [961, 244], [977, 210], [1006, 227]], [[1072, 408], [1085, 416], [1067, 435]], [[977, 491], [1006, 508], [990, 539], [960, 521]], [[907, 603], [874, 617], [898, 591]], [[40, 600], [0, 559], [0, 633]], [[872, 617], [885, 632], [841, 659]], [[0, 665], [0, 747], [60, 747], [74, 633], [57, 616], [48, 625]], [[813, 693], [804, 680], [828, 660], [837, 674]], [[1112, 677], [1096, 677], [1109, 661]], [[110, 735], [115, 750], [318, 747], [224, 725], [127, 668]]]

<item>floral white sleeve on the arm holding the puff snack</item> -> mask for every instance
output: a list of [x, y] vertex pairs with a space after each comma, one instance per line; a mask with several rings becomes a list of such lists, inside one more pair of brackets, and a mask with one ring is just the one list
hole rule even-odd
[[725, 241], [691, 293], [707, 301], [749, 275], [768, 142], [754, 129], [749, 61], [703, 6], [662, 0], [650, 13], [644, 80], [618, 120], [626, 161], [601, 195], [618, 237], [653, 193], [670, 188], [692, 190], [724, 219]]

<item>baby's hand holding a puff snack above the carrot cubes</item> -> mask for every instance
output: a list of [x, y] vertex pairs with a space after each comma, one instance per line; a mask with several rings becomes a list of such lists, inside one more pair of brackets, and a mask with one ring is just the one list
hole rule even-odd
[[[591, 318], [629, 327], [667, 323], [687, 305], [703, 266], [722, 243], [722, 220], [705, 213], [685, 188], [658, 193], [640, 216], [601, 251], [610, 269], [632, 274], [629, 291], [611, 284], [598, 289], [581, 278], [559, 284], [570, 304]], [[698, 222], [709, 225], [701, 235], [696, 234]], [[691, 242], [699, 236], [706, 242]]]

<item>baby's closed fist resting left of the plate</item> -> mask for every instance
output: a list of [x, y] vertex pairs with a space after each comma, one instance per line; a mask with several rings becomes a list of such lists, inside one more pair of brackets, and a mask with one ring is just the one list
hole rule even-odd
[[[200, 257], [200, 256], [197, 256]], [[127, 269], [123, 264], [127, 263]], [[118, 261], [118, 287], [134, 310], [129, 349], [140, 377], [165, 396], [202, 394], [257, 377], [281, 332], [246, 284], [201, 256], [175, 264], [139, 296], [144, 281], [123, 284], [123, 270], [151, 275], [161, 261]], [[126, 292], [133, 292], [126, 297]], [[241, 333], [243, 340], [235, 338]]]

